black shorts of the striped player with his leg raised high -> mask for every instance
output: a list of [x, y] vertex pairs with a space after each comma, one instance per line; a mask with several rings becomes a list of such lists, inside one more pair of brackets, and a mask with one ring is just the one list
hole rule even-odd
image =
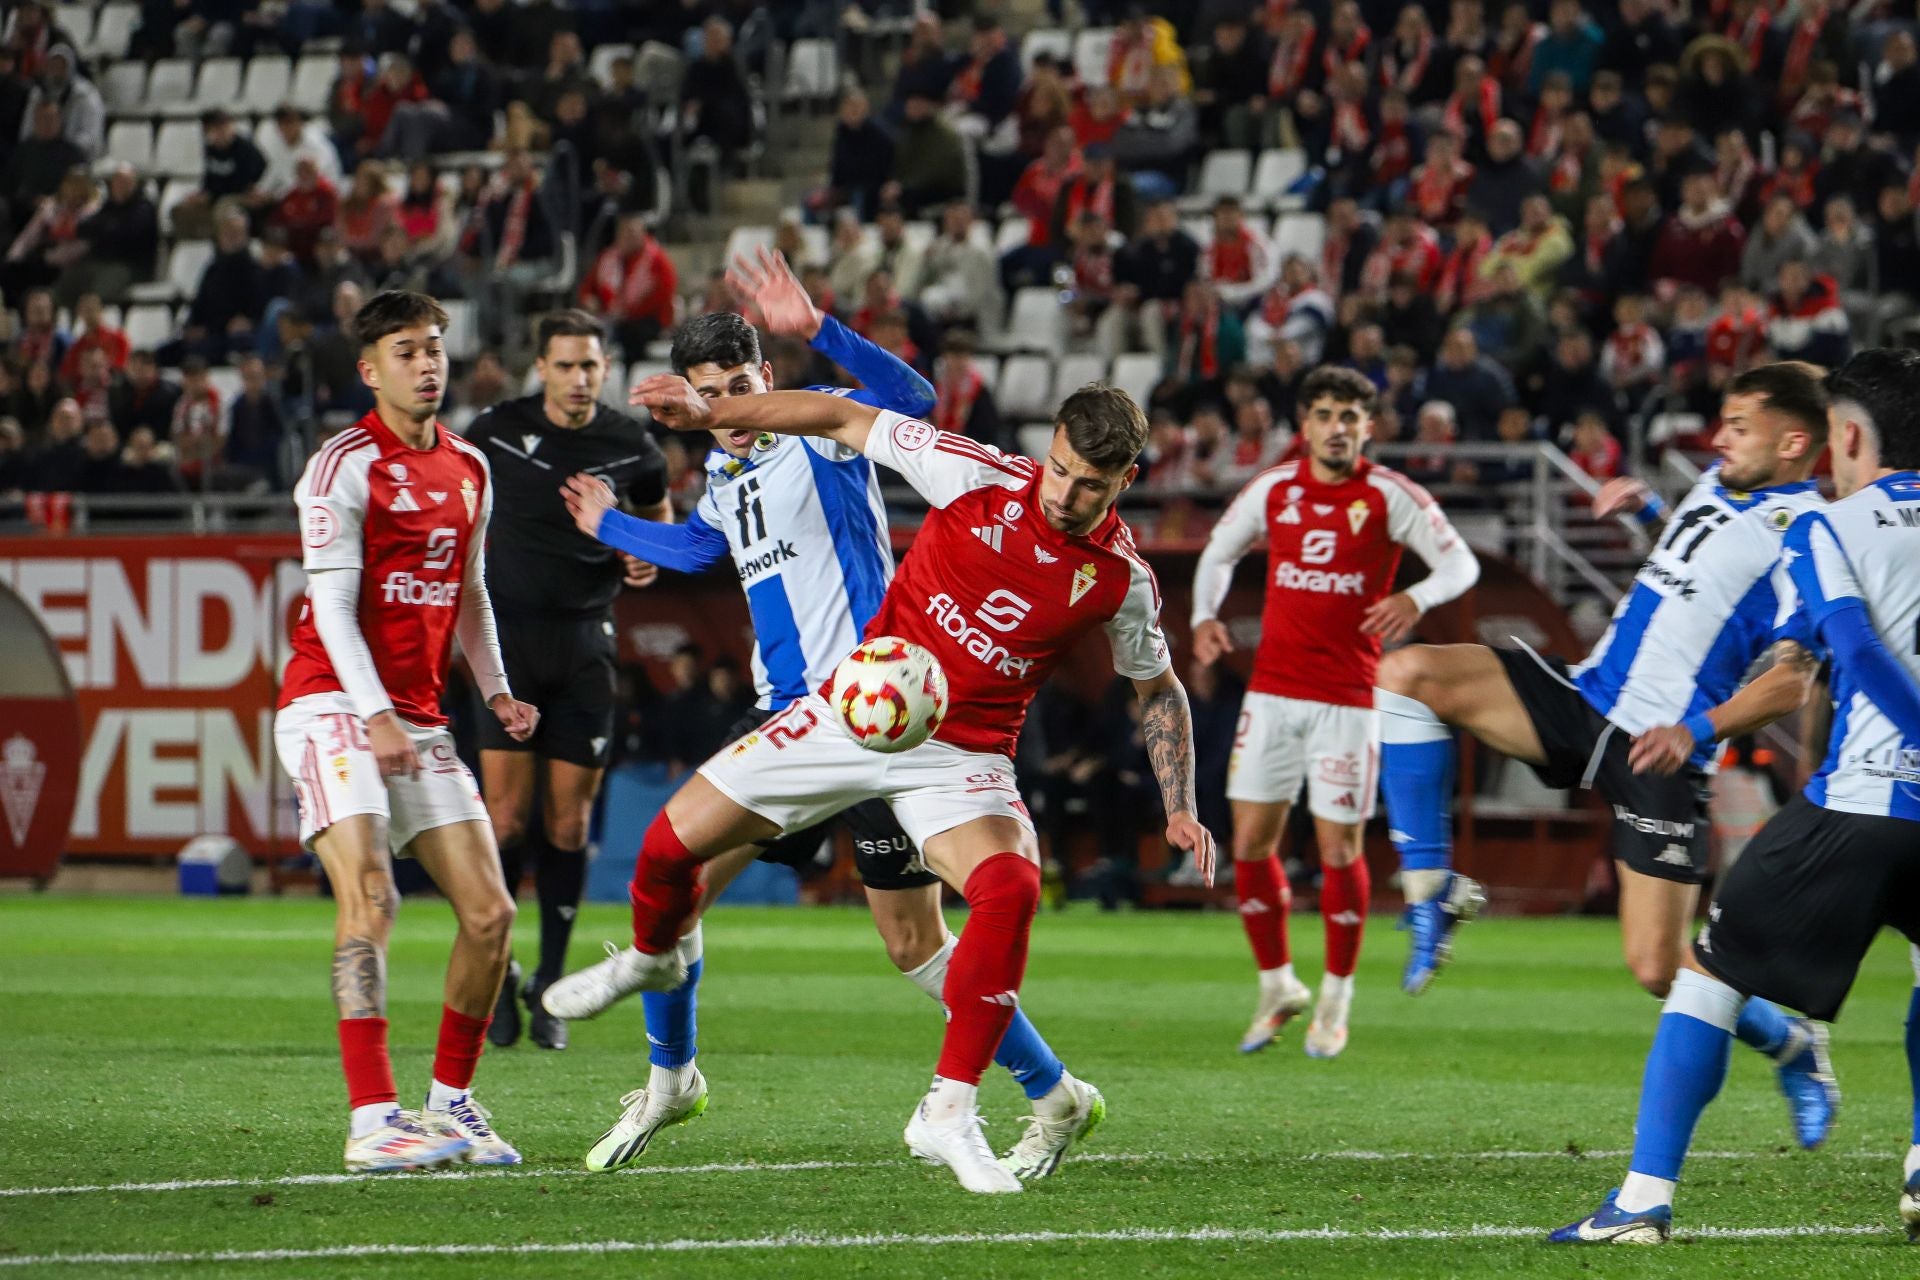
[[1672, 775], [1634, 773], [1632, 737], [1596, 712], [1567, 677], [1567, 664], [1528, 649], [1496, 649], [1548, 754], [1534, 766], [1548, 787], [1592, 787], [1613, 810], [1607, 844], [1642, 875], [1705, 885], [1709, 858], [1707, 773], [1692, 766]]

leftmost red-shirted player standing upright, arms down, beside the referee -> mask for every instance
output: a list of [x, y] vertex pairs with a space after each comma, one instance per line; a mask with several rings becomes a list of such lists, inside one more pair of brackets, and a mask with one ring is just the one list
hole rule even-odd
[[[455, 635], [511, 737], [532, 737], [540, 718], [509, 691], [493, 633], [486, 457], [434, 418], [447, 388], [445, 326], [424, 294], [374, 294], [359, 309], [353, 336], [374, 409], [315, 453], [294, 489], [307, 603], [273, 739], [300, 796], [301, 844], [334, 890], [334, 1004], [353, 1109], [346, 1163], [359, 1173], [520, 1163], [472, 1098], [513, 898], [440, 714]], [[459, 921], [424, 1113], [399, 1107], [386, 1048], [396, 854], [426, 867]]]

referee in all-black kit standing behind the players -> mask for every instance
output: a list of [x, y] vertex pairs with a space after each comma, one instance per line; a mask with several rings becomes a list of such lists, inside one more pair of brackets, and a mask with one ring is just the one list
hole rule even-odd
[[467, 432], [493, 466], [486, 576], [501, 656], [515, 695], [540, 708], [540, 729], [526, 743], [509, 739], [493, 716], [480, 718], [480, 777], [507, 890], [518, 892], [532, 867], [540, 894], [540, 967], [522, 986], [520, 965], [511, 963], [488, 1038], [497, 1046], [520, 1038], [515, 1000], [522, 998], [534, 1044], [563, 1050], [566, 1023], [541, 1007], [540, 992], [566, 969], [586, 885], [588, 821], [612, 741], [612, 597], [622, 581], [643, 587], [659, 570], [576, 530], [561, 484], [589, 472], [634, 514], [672, 520], [674, 510], [653, 436], [599, 399], [607, 380], [601, 322], [586, 311], [557, 311], [540, 320], [536, 338], [541, 390], [488, 409]]

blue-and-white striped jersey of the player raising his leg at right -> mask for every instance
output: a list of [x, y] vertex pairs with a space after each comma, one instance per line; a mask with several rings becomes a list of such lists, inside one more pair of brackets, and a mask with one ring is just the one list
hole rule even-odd
[[[1701, 476], [1674, 507], [1653, 555], [1572, 672], [1588, 704], [1626, 733], [1680, 723], [1740, 689], [1778, 639], [1772, 568], [1780, 539], [1820, 493], [1807, 480], [1741, 493]], [[1707, 764], [1701, 748], [1695, 764]]]

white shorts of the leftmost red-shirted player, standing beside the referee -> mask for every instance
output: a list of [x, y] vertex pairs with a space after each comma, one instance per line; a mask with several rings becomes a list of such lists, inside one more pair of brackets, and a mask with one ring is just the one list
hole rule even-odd
[[374, 814], [386, 819], [386, 842], [396, 854], [413, 837], [455, 821], [488, 821], [472, 770], [453, 750], [445, 729], [407, 725], [420, 770], [413, 777], [380, 777], [367, 743], [367, 725], [344, 693], [309, 693], [273, 718], [280, 768], [300, 796], [300, 844], [342, 818]]

